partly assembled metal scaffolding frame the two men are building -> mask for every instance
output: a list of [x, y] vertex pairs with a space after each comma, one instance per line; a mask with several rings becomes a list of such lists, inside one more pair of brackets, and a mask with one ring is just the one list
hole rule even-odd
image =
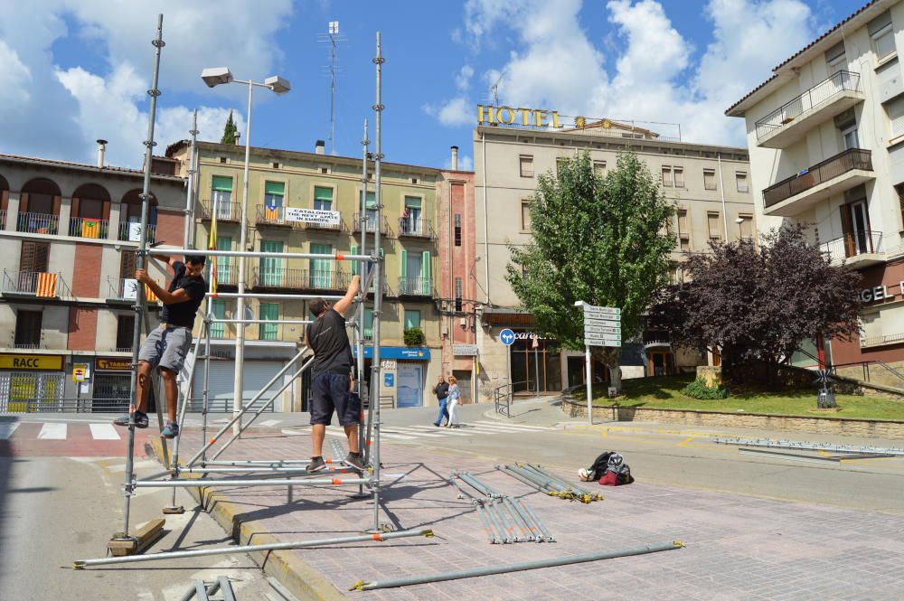
[[[294, 381], [296, 381], [303, 373], [306, 371], [313, 363], [314, 359], [311, 356], [308, 356], [308, 347], [299, 344], [297, 348], [297, 352], [295, 356], [286, 363], [286, 365], [278, 371], [278, 373], [271, 378], [264, 387], [259, 390], [252, 399], [248, 402], [241, 404], [241, 408], [238, 411], [235, 411], [231, 420], [222, 426], [212, 437], [208, 438], [208, 423], [207, 423], [207, 414], [210, 402], [210, 362], [211, 362], [211, 325], [212, 324], [237, 324], [239, 327], [244, 327], [247, 324], [259, 324], [259, 323], [273, 323], [271, 320], [259, 320], [259, 319], [249, 319], [246, 318], [245, 315], [237, 315], [234, 319], [225, 319], [218, 318], [212, 315], [212, 299], [214, 298], [257, 298], [257, 299], [265, 299], [265, 300], [295, 300], [295, 301], [306, 301], [313, 300], [315, 298], [323, 298], [325, 300], [336, 300], [342, 298], [342, 296], [324, 296], [324, 295], [294, 295], [294, 294], [246, 294], [244, 292], [239, 293], [219, 293], [213, 288], [213, 277], [210, 277], [210, 270], [213, 268], [212, 265], [208, 267], [208, 275], [209, 282], [211, 287], [208, 288], [207, 294], [205, 295], [205, 305], [203, 309], [203, 322], [202, 329], [200, 335], [195, 339], [193, 345], [193, 361], [187, 366], [187, 374], [188, 380], [187, 384], [184, 387], [179, 387], [178, 390], [178, 400], [177, 400], [177, 423], [179, 425], [180, 436], [176, 437], [174, 442], [174, 449], [172, 460], [170, 459], [168, 448], [166, 446], [166, 439], [161, 437], [162, 442], [162, 455], [163, 455], [163, 463], [165, 465], [165, 471], [158, 472], [155, 474], [150, 474], [148, 476], [137, 478], [135, 474], [135, 412], [139, 405], [139, 400], [137, 398], [137, 365], [138, 365], [138, 352], [141, 346], [141, 328], [142, 323], [144, 323], [144, 327], [146, 333], [150, 332], [150, 324], [147, 318], [146, 311], [146, 295], [144, 286], [138, 286], [138, 294], [136, 303], [133, 306], [134, 311], [136, 312], [137, 319], [135, 320], [135, 330], [133, 333], [133, 348], [132, 348], [132, 362], [134, 366], [134, 370], [132, 372], [132, 377], [130, 381], [130, 399], [131, 405], [129, 407], [129, 420], [128, 420], [128, 436], [127, 436], [127, 449], [126, 449], [126, 475], [125, 475], [125, 485], [124, 485], [124, 511], [123, 511], [123, 528], [122, 531], [119, 531], [113, 535], [113, 538], [109, 541], [109, 549], [113, 552], [114, 555], [122, 556], [122, 555], [133, 555], [140, 552], [145, 546], [146, 542], [140, 540], [141, 535], [138, 537], [130, 534], [129, 531], [129, 508], [131, 497], [136, 493], [139, 488], [172, 488], [173, 489], [173, 502], [170, 506], [165, 507], [163, 512], [165, 513], [181, 513], [184, 512], [184, 508], [177, 507], [175, 505], [175, 494], [176, 489], [181, 487], [216, 487], [221, 485], [229, 485], [229, 486], [288, 486], [289, 491], [293, 490], [294, 486], [322, 486], [322, 485], [336, 485], [336, 486], [344, 486], [344, 485], [354, 485], [358, 487], [358, 494], [355, 496], [363, 496], [368, 497], [372, 496], [373, 498], [373, 521], [372, 527], [363, 529], [364, 532], [370, 533], [372, 536], [377, 536], [378, 534], [387, 531], [387, 528], [380, 523], [380, 493], [381, 493], [381, 474], [380, 474], [380, 426], [381, 426], [381, 418], [380, 418], [380, 342], [381, 342], [381, 310], [382, 310], [382, 295], [385, 289], [383, 286], [383, 282], [385, 280], [385, 274], [382, 268], [382, 258], [381, 258], [381, 229], [379, 227], [368, 227], [368, 204], [367, 204], [367, 184], [368, 184], [368, 145], [370, 141], [368, 140], [367, 134], [367, 121], [364, 121], [364, 137], [362, 140], [363, 146], [363, 168], [362, 168], [362, 183], [363, 183], [363, 193], [361, 197], [361, 211], [359, 211], [359, 216], [361, 218], [361, 228], [362, 232], [362, 245], [361, 252], [357, 254], [344, 254], [340, 252], [334, 253], [334, 255], [322, 255], [315, 253], [302, 253], [302, 252], [267, 252], [267, 251], [250, 251], [247, 249], [241, 250], [217, 250], [217, 249], [192, 249], [189, 248], [189, 240], [186, 239], [184, 241], [184, 248], [182, 249], [155, 249], [151, 248], [148, 245], [148, 240], [146, 237], [147, 231], [147, 221], [148, 221], [148, 200], [150, 198], [149, 194], [149, 183], [150, 183], [150, 167], [151, 167], [151, 152], [153, 147], [155, 146], [154, 142], [154, 121], [155, 121], [155, 110], [156, 110], [156, 97], [160, 95], [160, 91], [157, 89], [157, 79], [158, 72], [160, 66], [160, 51], [161, 48], [165, 45], [163, 42], [163, 15], [158, 15], [157, 20], [157, 35], [155, 40], [152, 42], [155, 46], [155, 62], [154, 62], [154, 71], [152, 77], [152, 88], [148, 90], [148, 95], [151, 97], [151, 106], [148, 116], [148, 134], [147, 140], [145, 142], [146, 146], [146, 158], [145, 158], [145, 180], [144, 180], [144, 188], [141, 195], [142, 208], [141, 208], [141, 238], [138, 244], [137, 250], [137, 268], [144, 269], [146, 268], [146, 262], [149, 258], [154, 258], [157, 255], [200, 255], [208, 258], [217, 258], [217, 257], [231, 257], [231, 258], [239, 258], [244, 261], [248, 258], [306, 258], [306, 259], [321, 259], [321, 260], [334, 260], [334, 261], [350, 261], [357, 267], [357, 271], [361, 276], [363, 281], [362, 286], [359, 289], [359, 293], [354, 300], [352, 307], [350, 308], [350, 315], [353, 317], [347, 323], [347, 326], [353, 328], [353, 346], [355, 347], [355, 360], [357, 362], [356, 365], [356, 374], [357, 378], [355, 379], [355, 387], [356, 390], [353, 393], [358, 394], [361, 399], [368, 399], [366, 403], [366, 407], [364, 403], [362, 403], [362, 410], [359, 414], [359, 427], [357, 438], [359, 442], [359, 449], [363, 453], [365, 465], [371, 465], [370, 469], [366, 469], [363, 472], [359, 472], [352, 468], [346, 467], [344, 465], [331, 465], [325, 471], [319, 471], [316, 473], [318, 477], [310, 477], [314, 474], [309, 473], [306, 468], [302, 465], [307, 462], [289, 460], [289, 459], [246, 459], [246, 460], [234, 460], [234, 461], [222, 461], [218, 460], [218, 458], [238, 439], [240, 439], [241, 434], [245, 432], [248, 427], [254, 420], [258, 418], [264, 411], [266, 411], [270, 406], [272, 406], [277, 399], [280, 398], [280, 395], [287, 390], [289, 386], [292, 385]], [[373, 63], [375, 65], [376, 70], [376, 102], [372, 105], [372, 109], [376, 113], [375, 119], [375, 152], [372, 155], [372, 160], [374, 164], [374, 180], [375, 180], [375, 191], [374, 191], [374, 209], [375, 209], [375, 219], [376, 223], [380, 223], [382, 219], [382, 199], [381, 199], [381, 161], [383, 155], [381, 153], [381, 112], [383, 110], [383, 105], [381, 103], [381, 72], [382, 72], [382, 63], [384, 59], [381, 56], [381, 36], [380, 33], [376, 35], [376, 56], [373, 58]], [[195, 133], [196, 126], [193, 127], [193, 134]], [[216, 202], [216, 201], [215, 201]], [[245, 198], [243, 202], [248, 202], [248, 199]], [[217, 207], [214, 206], [213, 215], [217, 214]], [[186, 219], [188, 216], [186, 216]], [[215, 217], [214, 217], [215, 219]], [[215, 221], [213, 222], [215, 223]], [[241, 223], [241, 227], [247, 227], [247, 223]], [[215, 225], [212, 224], [212, 228], [215, 228]], [[368, 245], [366, 242], [367, 234], [369, 230], [372, 230], [373, 239], [372, 245]], [[366, 254], [366, 249], [372, 249], [370, 254]], [[210, 261], [209, 263], [214, 263], [215, 261]], [[372, 367], [371, 367], [371, 378], [370, 378], [370, 386], [369, 390], [364, 389], [364, 378], [363, 378], [363, 362], [364, 362], [364, 305], [368, 302], [368, 295], [372, 294], [372, 346], [373, 346], [373, 354], [372, 354]], [[349, 312], [346, 312], [349, 313]], [[310, 324], [312, 322], [308, 320], [279, 320], [279, 323], [287, 323], [287, 324]], [[202, 351], [203, 349], [203, 351]], [[183, 427], [184, 427], [184, 418], [186, 414], [186, 410], [190, 399], [192, 399], [192, 389], [194, 385], [194, 374], [198, 365], [198, 362], [203, 360], [204, 362], [204, 371], [203, 371], [203, 393], [202, 393], [202, 447], [196, 451], [188, 461], [181, 463], [180, 462], [180, 441], [184, 436]], [[244, 365], [243, 361], [240, 361], [240, 365], [236, 365], [237, 370], [242, 370]], [[288, 375], [287, 377], [287, 374]], [[282, 382], [281, 385], [279, 382]], [[278, 389], [275, 392], [271, 392], [271, 389]], [[157, 395], [160, 396], [160, 395]], [[242, 395], [243, 396], [243, 395]], [[250, 413], [251, 408], [257, 403], [260, 399], [264, 399], [267, 397], [264, 403], [253, 413]], [[163, 414], [162, 414], [162, 401], [163, 399], [157, 399], [156, 402], [156, 412], [157, 412], [157, 421], [163, 429]], [[366, 419], [365, 419], [365, 408], [366, 408]], [[247, 421], [242, 420], [243, 416], [250, 413], [250, 418]], [[366, 421], [366, 426], [365, 426]], [[236, 425], [236, 428], [232, 434], [232, 436], [226, 440], [226, 442], [222, 443], [221, 446], [214, 449], [213, 447], [221, 441], [223, 435], [230, 430], [233, 425]], [[334, 447], [334, 455], [338, 450], [341, 449], [341, 446], [338, 448]], [[335, 457], [335, 461], [341, 461], [341, 457]], [[344, 474], [349, 474], [354, 472], [356, 475], [353, 477], [345, 477]], [[197, 477], [194, 474], [199, 474], [200, 477]], [[210, 477], [209, 474], [224, 474], [219, 477]], [[190, 478], [183, 478], [183, 475], [192, 475]], [[276, 477], [274, 477], [276, 476]], [[369, 490], [369, 493], [365, 493], [365, 487]], [[141, 530], [141, 529], [138, 529]], [[419, 532], [427, 535], [426, 531]], [[397, 536], [406, 536], [409, 535], [409, 532], [400, 533]], [[384, 537], [389, 538], [389, 537]], [[351, 539], [350, 539], [351, 540]], [[357, 540], [357, 539], [355, 539]], [[373, 540], [382, 540], [374, 538]], [[335, 542], [340, 542], [344, 540], [334, 540]], [[314, 544], [326, 542], [326, 541], [313, 541]], [[295, 543], [291, 545], [292, 547], [300, 547], [306, 546], [303, 543]], [[289, 548], [289, 547], [287, 547]], [[212, 549], [214, 550], [214, 549]], [[220, 549], [223, 552], [226, 552], [226, 549]], [[239, 548], [230, 548], [228, 552], [235, 552], [239, 550]], [[214, 552], [217, 552], [214, 550]], [[161, 553], [156, 554], [155, 558], [166, 557], [167, 555], [171, 557], [182, 557], [184, 556], [184, 551], [172, 551], [170, 553]], [[77, 562], [77, 567], [86, 566], [86, 565], [100, 565], [102, 563], [108, 563], [108, 560], [86, 560], [83, 562]]]

